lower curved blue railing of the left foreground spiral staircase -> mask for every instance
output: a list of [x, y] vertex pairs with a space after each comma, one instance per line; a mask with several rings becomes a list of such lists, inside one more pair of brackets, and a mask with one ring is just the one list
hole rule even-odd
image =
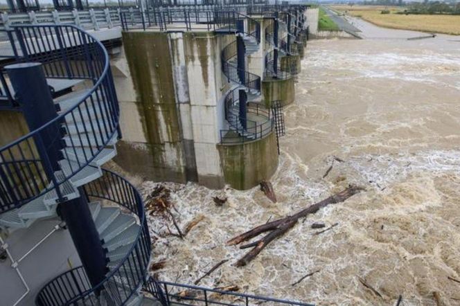
[[83, 267], [71, 269], [48, 282], [37, 294], [37, 306], [100, 305], [103, 295], [107, 305], [124, 305], [145, 281], [150, 260], [151, 242], [143, 201], [131, 183], [109, 170], [103, 177], [85, 185], [86, 196], [111, 201], [139, 219], [139, 232], [123, 260], [98, 285], [92, 287]]

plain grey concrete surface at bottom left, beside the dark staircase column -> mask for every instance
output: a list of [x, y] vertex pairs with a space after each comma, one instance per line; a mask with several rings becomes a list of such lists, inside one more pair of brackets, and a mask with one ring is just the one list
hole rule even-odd
[[[0, 233], [6, 243], [12, 258], [17, 261], [51, 232], [57, 219], [35, 222], [30, 228], [24, 228], [6, 235]], [[9, 259], [0, 260], [0, 305], [11, 306], [26, 292]], [[19, 303], [19, 306], [35, 305], [35, 296], [46, 282], [60, 273], [81, 265], [80, 258], [71, 240], [69, 231], [60, 229], [51, 234], [42, 244], [19, 262], [18, 267], [26, 280], [30, 292]]]

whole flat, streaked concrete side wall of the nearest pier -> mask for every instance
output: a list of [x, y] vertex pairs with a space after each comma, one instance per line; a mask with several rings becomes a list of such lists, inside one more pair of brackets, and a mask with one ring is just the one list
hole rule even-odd
[[123, 33], [124, 52], [112, 60], [122, 105], [116, 163], [154, 181], [224, 186], [215, 147], [227, 128], [220, 51], [232, 39], [212, 32]]

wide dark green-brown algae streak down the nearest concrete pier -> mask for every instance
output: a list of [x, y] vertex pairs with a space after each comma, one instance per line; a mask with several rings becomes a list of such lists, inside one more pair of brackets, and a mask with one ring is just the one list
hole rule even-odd
[[168, 34], [123, 33], [123, 46], [152, 162], [178, 172], [183, 154]]

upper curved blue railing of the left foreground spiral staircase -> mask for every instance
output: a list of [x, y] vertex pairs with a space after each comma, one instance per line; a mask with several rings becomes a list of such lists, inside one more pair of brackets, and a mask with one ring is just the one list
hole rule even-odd
[[[56, 118], [0, 148], [0, 213], [19, 208], [50, 190], [64, 201], [57, 186], [91, 163], [116, 136], [120, 112], [109, 57], [96, 38], [70, 25], [16, 26], [12, 36], [19, 44], [15, 50], [17, 62], [41, 62], [48, 78], [87, 79], [93, 85]], [[70, 173], [53, 169], [43, 144], [48, 131], [56, 126], [63, 135], [55, 136], [52, 143], [62, 147], [62, 159], [74, 156]], [[74, 136], [63, 145], [65, 134]], [[77, 154], [81, 147], [87, 150]], [[26, 160], [37, 163], [24, 166]]]

